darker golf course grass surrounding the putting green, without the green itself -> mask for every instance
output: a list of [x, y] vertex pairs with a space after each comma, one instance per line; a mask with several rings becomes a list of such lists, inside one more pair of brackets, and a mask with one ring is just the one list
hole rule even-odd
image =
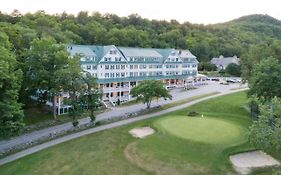
[[[188, 110], [247, 128], [251, 120], [243, 107], [245, 102], [245, 93], [237, 93], [196, 104]], [[186, 111], [165, 116], [186, 115]], [[226, 174], [232, 172], [228, 155], [252, 148], [247, 142], [198, 144], [169, 135], [157, 126], [158, 132], [146, 139], [134, 139], [128, 134], [128, 130], [136, 126], [154, 126], [158, 119], [54, 146], [1, 166], [0, 174]]]

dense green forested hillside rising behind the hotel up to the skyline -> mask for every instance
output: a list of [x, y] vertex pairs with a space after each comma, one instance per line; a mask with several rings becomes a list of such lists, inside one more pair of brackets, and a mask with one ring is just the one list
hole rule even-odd
[[199, 61], [207, 61], [219, 55], [247, 54], [253, 45], [263, 47], [281, 42], [281, 22], [267, 15], [198, 25], [148, 20], [138, 15], [118, 17], [87, 12], [77, 16], [48, 15], [44, 11], [22, 15], [14, 11], [9, 15], [1, 13], [0, 22], [0, 31], [8, 35], [17, 52], [28, 48], [36, 37], [50, 36], [58, 43], [188, 48]]

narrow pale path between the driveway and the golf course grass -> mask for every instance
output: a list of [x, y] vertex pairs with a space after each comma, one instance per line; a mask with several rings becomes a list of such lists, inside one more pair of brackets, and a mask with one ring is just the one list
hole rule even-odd
[[59, 143], [63, 143], [63, 142], [66, 142], [66, 141], [69, 141], [69, 140], [72, 140], [72, 139], [75, 139], [75, 138], [79, 138], [81, 136], [85, 136], [85, 135], [88, 135], [88, 134], [92, 134], [92, 133], [103, 131], [103, 130], [110, 129], [110, 128], [115, 128], [115, 127], [127, 125], [127, 124], [137, 122], [137, 121], [141, 121], [141, 120], [144, 120], [144, 119], [156, 117], [156, 116], [163, 115], [163, 114], [166, 114], [166, 113], [169, 113], [169, 112], [172, 112], [172, 111], [176, 111], [176, 110], [179, 110], [179, 109], [186, 108], [188, 106], [191, 106], [193, 104], [199, 103], [199, 102], [207, 100], [207, 99], [222, 96], [222, 95], [225, 95], [225, 94], [244, 91], [244, 90], [245, 89], [239, 89], [239, 90], [234, 90], [234, 91], [229, 90], [229, 91], [226, 91], [226, 92], [221, 93], [221, 94], [217, 94], [217, 95], [201, 98], [201, 99], [198, 99], [198, 100], [194, 100], [192, 102], [185, 103], [185, 104], [182, 104], [182, 105], [179, 105], [179, 106], [176, 106], [176, 107], [172, 107], [172, 108], [169, 108], [169, 109], [166, 109], [166, 110], [163, 110], [163, 111], [159, 111], [159, 112], [155, 112], [155, 113], [147, 114], [147, 115], [142, 115], [140, 117], [130, 118], [130, 119], [110, 123], [110, 124], [107, 124], [107, 125], [102, 125], [102, 126], [99, 126], [99, 127], [87, 129], [87, 130], [77, 132], [77, 133], [74, 133], [74, 134], [66, 135], [64, 137], [61, 137], [61, 138], [58, 138], [58, 139], [55, 139], [55, 140], [52, 140], [52, 141], [34, 146], [34, 147], [31, 147], [31, 148], [28, 148], [28, 149], [20, 151], [16, 154], [13, 154], [13, 155], [7, 156], [3, 159], [0, 159], [0, 165], [12, 162], [12, 161], [17, 160], [21, 157], [30, 155], [32, 153], [38, 152], [38, 151], [46, 149], [46, 148], [49, 148], [49, 147], [57, 145]]

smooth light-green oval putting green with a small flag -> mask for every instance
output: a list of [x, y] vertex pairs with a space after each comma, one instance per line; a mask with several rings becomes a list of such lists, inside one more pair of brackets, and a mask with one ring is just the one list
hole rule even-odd
[[241, 138], [243, 128], [235, 123], [209, 117], [167, 117], [157, 121], [164, 131], [180, 138], [207, 144], [224, 144]]

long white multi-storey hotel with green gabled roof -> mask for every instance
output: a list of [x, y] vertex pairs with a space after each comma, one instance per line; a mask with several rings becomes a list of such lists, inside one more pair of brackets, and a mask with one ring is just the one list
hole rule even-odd
[[82, 56], [83, 70], [97, 77], [107, 105], [130, 100], [130, 90], [143, 80], [172, 88], [197, 75], [198, 61], [188, 50], [69, 45], [68, 51]]

